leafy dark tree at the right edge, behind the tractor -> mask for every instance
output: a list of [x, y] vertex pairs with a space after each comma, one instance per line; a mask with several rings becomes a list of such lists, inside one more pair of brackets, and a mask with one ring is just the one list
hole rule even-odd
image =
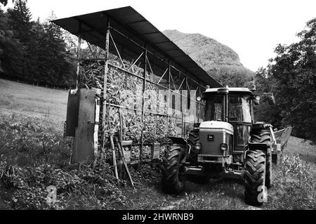
[[[261, 113], [277, 117], [277, 126], [294, 126], [293, 134], [316, 141], [316, 18], [306, 23], [289, 46], [279, 44], [270, 65], [258, 70], [257, 83], [275, 93], [275, 110]], [[270, 89], [267, 88], [270, 86]], [[272, 122], [273, 123], [273, 122]]]

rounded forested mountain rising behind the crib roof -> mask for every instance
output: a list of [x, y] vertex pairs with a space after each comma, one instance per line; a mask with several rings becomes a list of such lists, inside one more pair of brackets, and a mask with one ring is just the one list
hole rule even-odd
[[242, 65], [239, 55], [232, 48], [215, 39], [170, 29], [163, 33], [223, 85], [248, 86], [254, 77], [254, 72]]

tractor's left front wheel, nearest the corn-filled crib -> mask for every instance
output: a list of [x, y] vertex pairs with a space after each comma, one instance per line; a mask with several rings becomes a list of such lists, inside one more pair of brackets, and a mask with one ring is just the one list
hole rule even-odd
[[185, 188], [185, 145], [173, 144], [162, 157], [162, 190], [179, 194]]

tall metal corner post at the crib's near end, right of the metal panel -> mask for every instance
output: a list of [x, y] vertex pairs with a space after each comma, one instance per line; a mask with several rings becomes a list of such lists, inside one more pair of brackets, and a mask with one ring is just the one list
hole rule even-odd
[[[104, 65], [104, 84], [103, 84], [103, 114], [102, 114], [102, 128], [103, 128], [103, 156], [105, 154], [105, 114], [107, 112], [107, 73], [109, 72], [109, 44], [110, 44], [110, 18], [107, 18], [107, 34], [105, 36], [105, 65]], [[110, 104], [109, 104], [110, 107]]]

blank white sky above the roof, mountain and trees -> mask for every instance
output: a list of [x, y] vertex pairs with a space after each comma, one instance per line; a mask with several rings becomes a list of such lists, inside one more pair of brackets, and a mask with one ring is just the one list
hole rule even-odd
[[[315, 0], [28, 0], [33, 19], [51, 11], [58, 18], [132, 6], [160, 31], [177, 29], [216, 39], [236, 51], [256, 72], [275, 56], [277, 44], [298, 41], [296, 34], [316, 17]], [[12, 7], [12, 2], [5, 7]]]

